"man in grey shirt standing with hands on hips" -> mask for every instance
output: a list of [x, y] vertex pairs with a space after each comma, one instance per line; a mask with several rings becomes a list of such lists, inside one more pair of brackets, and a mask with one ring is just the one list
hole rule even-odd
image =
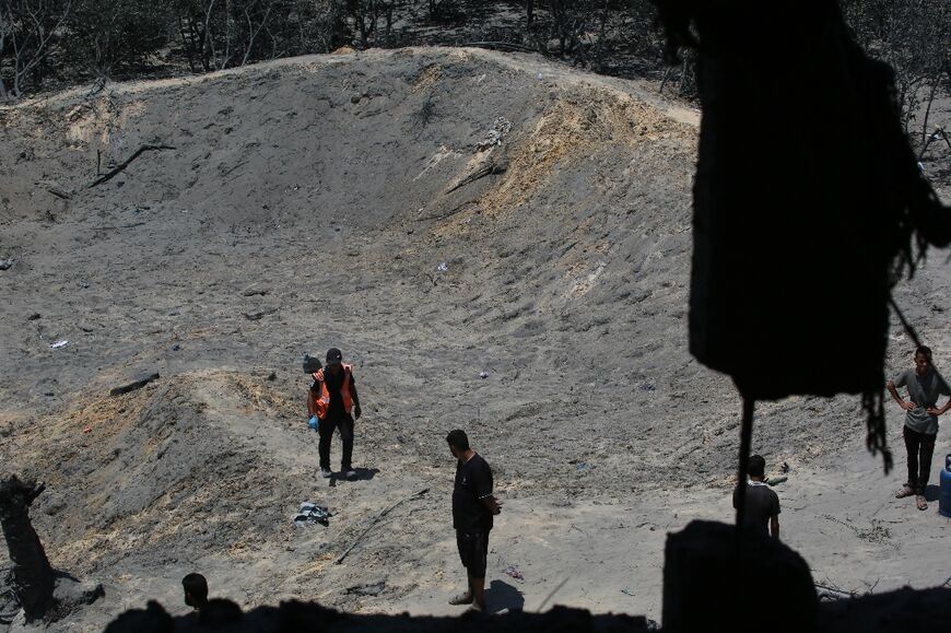
[[[888, 382], [889, 394], [905, 410], [905, 449], [908, 452], [908, 479], [895, 493], [897, 499], [915, 495], [918, 509], [928, 509], [925, 488], [931, 470], [935, 439], [938, 437], [938, 415], [951, 408], [951, 400], [938, 407], [938, 398], [951, 396], [948, 384], [931, 366], [931, 350], [920, 345], [915, 350], [915, 368], [905, 370]], [[908, 390], [908, 399], [899, 395], [899, 387]]]

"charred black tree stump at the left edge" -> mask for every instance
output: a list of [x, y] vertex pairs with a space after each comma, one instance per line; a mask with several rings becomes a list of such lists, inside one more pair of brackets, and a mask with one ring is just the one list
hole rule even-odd
[[13, 563], [13, 591], [27, 622], [42, 618], [52, 601], [52, 567], [30, 521], [30, 504], [45, 488], [15, 474], [0, 480], [0, 526]]

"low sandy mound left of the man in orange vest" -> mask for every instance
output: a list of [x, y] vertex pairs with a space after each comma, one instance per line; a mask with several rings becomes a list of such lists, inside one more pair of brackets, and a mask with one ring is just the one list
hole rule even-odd
[[35, 448], [20, 458], [50, 489], [36, 506], [48, 547], [64, 568], [92, 572], [277, 538], [290, 512], [278, 500], [297, 496], [312, 471], [303, 447], [283, 437], [294, 436], [281, 421], [291, 409], [267, 380], [213, 371], [38, 421], [22, 437]]

